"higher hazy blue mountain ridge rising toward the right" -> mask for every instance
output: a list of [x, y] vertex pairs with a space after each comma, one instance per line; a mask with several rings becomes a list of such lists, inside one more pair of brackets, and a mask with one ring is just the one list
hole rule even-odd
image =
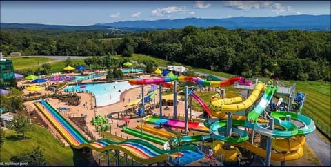
[[119, 21], [114, 23], [97, 23], [96, 26], [114, 28], [183, 28], [185, 26], [210, 27], [221, 26], [228, 29], [269, 29], [269, 30], [330, 30], [330, 15], [291, 15], [279, 17], [232, 17], [226, 19], [160, 19], [156, 21]]

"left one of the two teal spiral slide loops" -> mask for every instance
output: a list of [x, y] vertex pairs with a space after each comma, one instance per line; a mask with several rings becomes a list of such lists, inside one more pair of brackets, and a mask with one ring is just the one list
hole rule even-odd
[[[237, 134], [238, 137], [226, 137], [226, 124], [227, 120], [217, 121], [210, 126], [210, 132], [212, 132], [214, 139], [229, 143], [241, 143], [247, 141], [249, 136], [245, 130], [232, 127], [232, 135]], [[245, 121], [232, 120], [232, 126], [245, 126]]]

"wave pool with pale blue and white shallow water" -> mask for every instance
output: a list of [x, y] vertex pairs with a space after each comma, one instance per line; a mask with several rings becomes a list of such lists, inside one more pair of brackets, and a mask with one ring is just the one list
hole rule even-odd
[[[86, 86], [85, 88], [80, 88], [81, 86]], [[136, 88], [138, 86], [131, 86], [128, 81], [122, 82], [112, 82], [112, 83], [87, 83], [74, 86], [73, 88], [65, 88], [66, 92], [80, 92], [82, 90], [89, 91], [94, 93], [96, 99], [96, 105], [99, 106], [107, 106], [110, 104], [114, 104], [120, 99], [121, 92], [128, 90], [130, 88]], [[121, 90], [121, 92], [119, 92]], [[83, 103], [84, 101], [82, 101]]]

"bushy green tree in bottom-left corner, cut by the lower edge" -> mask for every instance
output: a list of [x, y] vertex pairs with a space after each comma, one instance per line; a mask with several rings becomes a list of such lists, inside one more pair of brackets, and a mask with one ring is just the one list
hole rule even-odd
[[46, 166], [46, 159], [43, 155], [45, 151], [39, 146], [32, 148], [31, 150], [25, 150], [20, 155], [15, 155], [10, 158], [13, 162], [25, 162], [29, 166]]

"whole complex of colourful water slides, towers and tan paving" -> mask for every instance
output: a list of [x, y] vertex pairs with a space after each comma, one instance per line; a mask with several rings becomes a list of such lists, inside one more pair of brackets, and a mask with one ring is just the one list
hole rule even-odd
[[[135, 90], [137, 97], [126, 101], [124, 98], [128, 97], [121, 95], [121, 92], [126, 92], [126, 87], [123, 87], [117, 91], [119, 97], [115, 100], [115, 104], [121, 106], [119, 109], [98, 111], [100, 114], [97, 115], [96, 110], [102, 110], [103, 106], [94, 106], [97, 108], [94, 108], [94, 113], [86, 112], [85, 117], [86, 122], [94, 126], [88, 132], [101, 134], [110, 131], [115, 135], [121, 134], [121, 137], [126, 135], [124, 141], [111, 141], [104, 135], [92, 135], [94, 139], [88, 139], [70, 124], [66, 114], [63, 115], [65, 111], [55, 108], [59, 104], [52, 101], [41, 99], [34, 101], [34, 106], [72, 148], [105, 153], [106, 163], [114, 159], [117, 165], [121, 159], [125, 159], [126, 165], [192, 165], [201, 159], [210, 159], [213, 165], [248, 165], [254, 157], [259, 157], [265, 165], [270, 165], [271, 161], [279, 163], [275, 165], [285, 165], [286, 161], [303, 156], [305, 135], [316, 128], [310, 117], [301, 115], [306, 95], [302, 92], [295, 95], [294, 86], [285, 88], [279, 86], [278, 81], [253, 83], [243, 77], [208, 81], [183, 75], [146, 75], [129, 79], [127, 83], [134, 86], [128, 86], [128, 90]], [[69, 89], [81, 86], [67, 88], [66, 92], [71, 93]], [[102, 92], [103, 86], [94, 86]], [[117, 85], [108, 87], [117, 90], [114, 86]], [[246, 93], [225, 92], [229, 86]], [[208, 101], [210, 105], [194, 92], [208, 88], [217, 90]], [[190, 97], [197, 100], [204, 110], [199, 117], [198, 112], [192, 111]], [[195, 119], [192, 112], [197, 114]], [[210, 150], [212, 155], [208, 153]]]

